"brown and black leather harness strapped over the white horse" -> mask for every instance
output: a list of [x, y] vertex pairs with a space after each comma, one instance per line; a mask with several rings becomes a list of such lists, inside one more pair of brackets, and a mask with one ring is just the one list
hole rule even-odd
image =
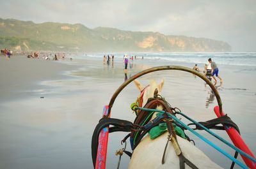
[[[145, 93], [146, 88], [147, 87], [145, 87], [141, 91], [141, 96], [140, 96], [141, 98], [143, 98], [143, 94]], [[156, 110], [156, 108], [158, 106], [163, 107], [163, 110]], [[168, 135], [168, 141], [166, 143], [166, 146], [165, 146], [164, 152], [163, 152], [162, 164], [164, 164], [164, 161], [165, 161], [164, 158], [166, 156], [166, 148], [168, 146], [168, 142], [171, 141], [172, 145], [175, 149], [176, 155], [179, 157], [180, 169], [184, 169], [185, 163], [186, 163], [186, 165], [190, 166], [193, 169], [197, 168], [195, 165], [193, 165], [193, 163], [191, 161], [189, 161], [189, 159], [187, 159], [182, 154], [182, 151], [179, 147], [179, 143], [177, 142], [177, 138], [176, 138], [176, 134], [179, 135], [179, 132], [176, 133], [176, 131], [173, 129], [173, 124], [175, 124], [176, 126], [180, 126], [183, 131], [184, 131], [184, 129], [188, 129], [191, 132], [195, 132], [194, 129], [189, 128], [189, 125], [191, 125], [191, 124], [188, 124], [188, 126], [187, 126], [186, 124], [183, 124], [182, 122], [180, 122], [179, 119], [177, 119], [175, 114], [179, 114], [179, 115], [186, 117], [186, 115], [184, 115], [180, 112], [179, 108], [172, 108], [170, 106], [170, 104], [167, 101], [165, 101], [164, 98], [162, 98], [159, 94], [155, 93], [154, 98], [148, 99], [145, 107], [143, 107], [143, 108], [137, 107], [132, 110], [134, 110], [134, 111], [140, 110], [140, 113], [136, 113], [137, 117], [133, 123], [129, 122], [129, 121], [124, 121], [124, 120], [120, 120], [120, 119], [112, 119], [112, 118], [102, 118], [99, 121], [99, 124], [97, 124], [95, 131], [93, 132], [93, 136], [92, 136], [92, 159], [93, 159], [94, 167], [95, 167], [95, 161], [96, 161], [96, 156], [97, 156], [97, 148], [99, 146], [99, 142], [98, 142], [99, 133], [106, 126], [109, 126], [109, 125], [113, 126], [113, 127], [109, 128], [109, 133], [113, 133], [116, 131], [131, 132], [131, 133], [129, 133], [129, 135], [125, 136], [125, 138], [122, 140], [122, 143], [125, 143], [127, 138], [130, 137], [131, 148], [132, 148], [132, 151], [134, 151], [134, 149], [136, 149], [136, 147], [138, 146], [140, 141], [144, 138], [145, 135], [147, 135], [147, 133], [150, 131], [150, 129], [158, 126], [159, 124], [166, 123], [167, 131], [168, 131], [169, 135]], [[177, 110], [179, 110], [179, 111], [177, 111]], [[156, 112], [159, 112], [161, 114], [157, 115], [157, 117], [155, 119], [150, 120], [152, 118], [152, 115]], [[225, 115], [225, 117], [227, 117], [227, 115]], [[227, 118], [229, 118], [229, 117], [227, 117]], [[196, 126], [195, 129], [204, 129], [205, 131], [210, 132], [208, 128], [219, 129], [218, 126], [216, 126], [216, 124], [225, 123], [227, 121], [227, 118], [225, 118], [223, 120], [221, 120], [220, 118], [217, 118], [217, 119], [213, 119], [211, 121], [206, 121], [206, 122], [195, 122], [191, 119], [189, 119], [189, 120], [191, 122], [193, 122], [192, 124], [194, 124]], [[188, 119], [188, 117], [186, 117], [186, 119]], [[235, 124], [232, 124], [232, 125], [231, 124], [232, 124], [232, 121], [231, 120], [228, 121], [228, 124], [227, 124], [228, 126], [236, 126]], [[210, 133], [210, 134], [213, 135], [212, 133]], [[188, 136], [186, 134], [185, 134], [185, 136], [186, 136], [185, 139], [190, 141], [190, 139], [188, 138]], [[215, 134], [214, 134], [214, 136], [216, 138], [218, 138], [219, 140], [223, 141], [223, 139], [222, 138], [220, 139], [219, 136], [216, 136]], [[216, 148], [215, 145], [212, 145], [212, 147]], [[236, 148], [236, 151], [237, 151], [237, 148]], [[246, 155], [246, 157], [247, 157], [247, 154], [244, 154], [244, 152], [241, 152], [241, 150], [238, 150], [238, 151], [241, 154]], [[121, 149], [120, 152], [118, 151], [118, 155], [120, 155], [120, 158], [121, 158], [123, 152], [125, 152], [125, 154], [127, 154], [131, 158], [132, 153], [125, 151], [125, 148]], [[220, 151], [220, 152], [222, 154], [224, 154], [225, 156], [227, 156], [228, 158], [230, 158], [226, 154], [226, 152], [223, 152], [223, 151]], [[120, 163], [120, 158], [118, 161], [118, 165]], [[234, 156], [234, 158], [230, 158], [233, 161], [231, 168], [234, 166], [234, 162], [237, 163], [239, 166], [243, 166], [243, 164], [240, 164], [236, 158], [237, 158], [237, 153], [236, 153], [236, 156]], [[249, 158], [251, 159], [250, 156], [249, 156]]]

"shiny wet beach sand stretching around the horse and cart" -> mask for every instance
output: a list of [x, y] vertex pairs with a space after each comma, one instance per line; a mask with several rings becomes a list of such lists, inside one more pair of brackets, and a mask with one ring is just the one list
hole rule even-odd
[[[127, 78], [150, 67], [134, 61]], [[93, 168], [93, 129], [102, 117], [104, 105], [108, 105], [125, 80], [122, 61], [117, 59], [113, 66], [108, 66], [91, 58], [45, 61], [25, 56], [13, 56], [10, 60], [0, 57], [0, 71], [0, 168]], [[237, 76], [239, 73], [233, 71], [223, 75], [224, 87], [219, 89], [223, 110], [237, 123], [244, 140], [255, 152], [252, 125], [256, 90], [244, 83], [250, 82], [250, 75], [243, 75], [244, 82], [234, 84]], [[165, 79], [162, 94], [172, 107], [180, 108], [196, 121], [216, 118], [213, 112], [216, 98], [199, 78], [184, 72], [161, 71], [139, 80], [147, 85], [150, 78], [158, 82]], [[125, 87], [116, 98], [111, 117], [133, 121], [135, 114], [130, 105], [139, 94], [134, 84]], [[217, 133], [228, 138], [224, 131]], [[122, 148], [120, 141], [126, 134], [110, 134], [108, 168], [116, 167], [115, 151]], [[230, 166], [222, 155], [216, 156], [218, 152], [195, 136], [191, 138], [218, 164]], [[123, 156], [121, 168], [128, 163], [129, 158]]]

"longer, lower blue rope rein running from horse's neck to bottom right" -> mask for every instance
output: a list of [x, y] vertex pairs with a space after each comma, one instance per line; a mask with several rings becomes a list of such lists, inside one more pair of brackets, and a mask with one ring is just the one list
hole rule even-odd
[[[163, 110], [155, 110], [155, 109], [150, 109], [150, 108], [136, 108], [136, 109], [140, 109], [140, 110], [145, 110], [145, 111], [154, 111], [154, 112], [160, 112], [160, 113], [164, 113]], [[193, 133], [194, 135], [198, 136], [201, 140], [203, 140], [205, 143], [211, 145], [211, 147], [213, 147], [214, 149], [216, 149], [217, 151], [221, 152], [221, 154], [223, 154], [224, 156], [226, 156], [227, 158], [231, 159], [232, 161], [234, 161], [237, 165], [241, 166], [241, 168], [248, 168], [246, 165], [244, 165], [243, 163], [241, 163], [240, 161], [238, 161], [236, 158], [234, 158], [233, 156], [230, 156], [230, 154], [228, 154], [226, 151], [224, 151], [223, 149], [221, 149], [220, 147], [218, 147], [218, 145], [215, 145], [214, 143], [212, 143], [210, 140], [207, 140], [207, 138], [205, 138], [204, 136], [200, 135], [199, 133], [197, 133], [196, 131], [194, 131], [193, 129], [189, 128], [189, 126], [187, 126], [186, 124], [184, 124], [182, 121], [180, 121], [177, 117], [175, 117], [174, 115], [168, 113], [168, 115], [170, 117], [172, 117], [173, 120], [179, 122], [179, 124], [181, 124], [182, 126], [184, 126], [184, 128], [188, 129], [189, 131], [191, 131], [191, 133]], [[245, 153], [245, 152], [244, 152]], [[248, 155], [249, 156], [249, 155]]]

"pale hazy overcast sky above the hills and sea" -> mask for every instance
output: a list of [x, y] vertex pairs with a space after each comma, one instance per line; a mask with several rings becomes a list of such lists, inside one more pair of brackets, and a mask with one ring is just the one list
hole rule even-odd
[[256, 51], [256, 0], [0, 0], [0, 6], [0, 18], [212, 38], [233, 51]]

